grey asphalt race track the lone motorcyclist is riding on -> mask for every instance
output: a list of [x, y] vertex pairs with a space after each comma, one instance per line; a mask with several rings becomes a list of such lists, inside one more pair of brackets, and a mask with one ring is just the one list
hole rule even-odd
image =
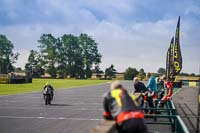
[[[133, 83], [123, 85], [133, 91]], [[41, 92], [0, 96], [0, 133], [88, 133], [102, 120], [109, 83], [55, 91], [52, 105]], [[169, 127], [151, 126], [155, 131]], [[149, 129], [151, 129], [149, 128]]]

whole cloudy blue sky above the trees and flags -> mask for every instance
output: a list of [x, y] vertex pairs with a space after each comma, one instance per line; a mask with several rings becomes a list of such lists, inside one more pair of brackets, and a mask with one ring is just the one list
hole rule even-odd
[[0, 0], [0, 34], [20, 53], [24, 67], [42, 33], [87, 33], [98, 43], [102, 70], [114, 64], [156, 72], [181, 16], [182, 72], [199, 73], [199, 0]]

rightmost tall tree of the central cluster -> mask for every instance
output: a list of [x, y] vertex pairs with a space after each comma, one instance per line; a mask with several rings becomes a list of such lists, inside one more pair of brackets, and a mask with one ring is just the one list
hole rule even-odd
[[85, 76], [90, 78], [92, 67], [101, 63], [101, 54], [98, 52], [97, 43], [87, 34], [80, 34], [78, 42], [81, 47]]

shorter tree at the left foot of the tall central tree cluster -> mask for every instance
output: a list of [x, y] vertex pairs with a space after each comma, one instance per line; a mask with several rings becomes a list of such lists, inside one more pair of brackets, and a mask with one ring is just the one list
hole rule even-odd
[[41, 77], [41, 75], [44, 75], [43, 64], [41, 55], [37, 51], [31, 50], [28, 63], [25, 65], [27, 75], [32, 77]]

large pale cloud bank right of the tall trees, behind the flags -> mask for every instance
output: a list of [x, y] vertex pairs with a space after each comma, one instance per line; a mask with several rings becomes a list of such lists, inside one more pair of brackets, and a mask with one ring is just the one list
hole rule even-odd
[[[156, 72], [159, 67], [165, 68], [166, 52], [171, 37], [175, 34], [176, 23], [177, 18], [133, 23], [127, 26], [102, 21], [88, 33], [99, 43], [100, 51], [103, 53], [101, 65], [103, 68], [113, 63], [119, 71], [124, 71], [131, 66]], [[192, 40], [193, 37], [190, 34], [194, 31], [194, 27], [190, 22], [181, 25], [183, 71], [190, 73], [198, 72], [199, 64], [197, 58], [200, 47], [197, 46], [197, 38]], [[188, 67], [190, 61], [193, 64], [192, 69]]]

